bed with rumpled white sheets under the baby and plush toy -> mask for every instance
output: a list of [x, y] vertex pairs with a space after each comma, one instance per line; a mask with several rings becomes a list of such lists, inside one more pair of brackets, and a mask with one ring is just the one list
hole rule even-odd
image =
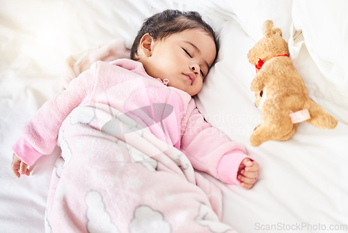
[[[205, 119], [242, 142], [260, 164], [251, 190], [207, 174], [223, 193], [223, 222], [237, 232], [348, 232], [348, 16], [335, 1], [1, 1], [0, 232], [45, 232], [45, 205], [57, 148], [29, 177], [10, 170], [21, 126], [62, 88], [67, 58], [88, 56], [115, 39], [126, 48], [145, 17], [197, 10], [220, 35], [221, 50], [196, 103]], [[253, 147], [261, 121], [250, 90], [255, 67], [248, 50], [262, 23], [283, 31], [310, 98], [338, 119], [333, 130], [300, 123], [287, 142]]]

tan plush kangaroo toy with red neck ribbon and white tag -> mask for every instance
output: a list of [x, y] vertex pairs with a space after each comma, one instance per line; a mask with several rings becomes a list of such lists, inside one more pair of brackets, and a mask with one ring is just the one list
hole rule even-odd
[[256, 68], [251, 91], [262, 114], [262, 123], [251, 134], [251, 145], [289, 140], [301, 121], [318, 128], [335, 128], [338, 121], [310, 100], [282, 31], [274, 28], [271, 20], [264, 22], [262, 31], [264, 37], [248, 52], [248, 61]]

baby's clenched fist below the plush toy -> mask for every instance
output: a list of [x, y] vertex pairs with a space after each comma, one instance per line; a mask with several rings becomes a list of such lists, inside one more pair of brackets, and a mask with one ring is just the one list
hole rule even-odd
[[241, 181], [241, 186], [246, 189], [253, 188], [259, 175], [259, 165], [257, 162], [244, 158], [239, 165], [237, 179]]

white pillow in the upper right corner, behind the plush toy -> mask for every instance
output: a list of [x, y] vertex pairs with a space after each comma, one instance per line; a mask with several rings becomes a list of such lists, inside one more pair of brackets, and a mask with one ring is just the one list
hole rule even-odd
[[[290, 44], [294, 63], [308, 86], [308, 92], [319, 105], [348, 123], [348, 1], [294, 0], [292, 18], [296, 31], [302, 31], [303, 41]], [[308, 59], [296, 58], [308, 50]], [[297, 49], [299, 50], [299, 49]], [[308, 64], [310, 64], [308, 63]], [[315, 70], [315, 72], [308, 72]]]

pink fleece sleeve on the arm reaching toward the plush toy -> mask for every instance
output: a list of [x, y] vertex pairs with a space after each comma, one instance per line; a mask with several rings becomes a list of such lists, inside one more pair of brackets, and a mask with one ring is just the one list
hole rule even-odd
[[181, 150], [193, 167], [226, 183], [238, 184], [235, 171], [238, 171], [240, 162], [247, 158], [244, 146], [231, 141], [220, 130], [207, 123], [197, 108], [189, 113], [186, 122]]

